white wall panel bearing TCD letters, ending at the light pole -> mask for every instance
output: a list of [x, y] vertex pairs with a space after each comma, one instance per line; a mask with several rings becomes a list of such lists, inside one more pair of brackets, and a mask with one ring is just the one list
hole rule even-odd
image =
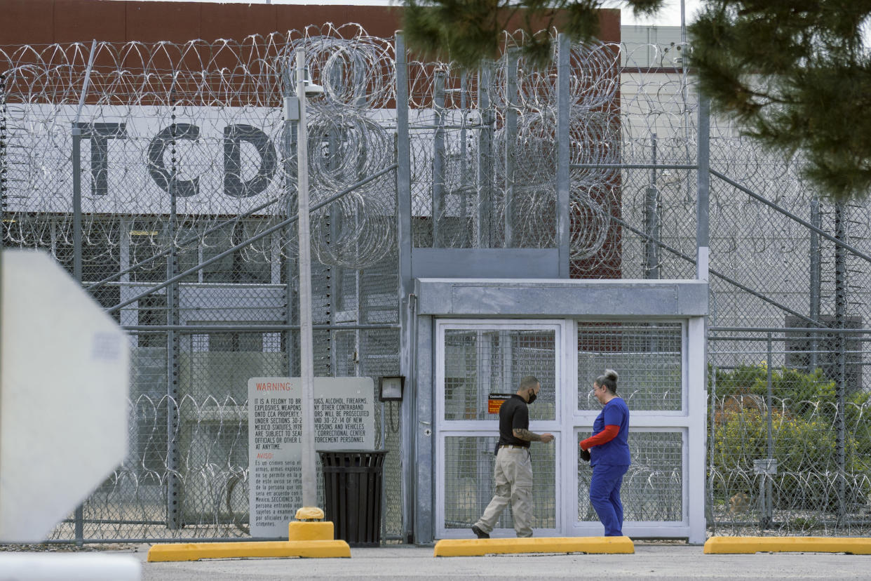
[[[10, 104], [9, 210], [71, 212], [81, 134], [82, 212], [244, 213], [282, 195], [280, 107]], [[74, 127], [75, 125], [75, 127]], [[173, 174], [174, 171], [174, 174]]]

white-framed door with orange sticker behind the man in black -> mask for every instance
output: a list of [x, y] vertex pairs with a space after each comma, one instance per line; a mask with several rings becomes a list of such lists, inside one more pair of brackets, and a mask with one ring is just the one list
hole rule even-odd
[[[513, 394], [534, 375], [542, 389], [530, 404], [530, 429], [557, 436], [533, 443], [534, 508], [538, 536], [562, 529], [559, 446], [564, 382], [564, 322], [445, 321], [436, 325], [436, 537], [469, 537], [493, 495], [498, 395]], [[513, 537], [510, 508], [493, 537]]]

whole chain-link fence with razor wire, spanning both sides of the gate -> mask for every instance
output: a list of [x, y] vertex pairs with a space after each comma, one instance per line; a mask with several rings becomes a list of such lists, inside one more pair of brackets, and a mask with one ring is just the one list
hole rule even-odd
[[[506, 36], [504, 57], [480, 71], [408, 65], [415, 247], [557, 246], [557, 65], [531, 68], [516, 44]], [[0, 50], [3, 246], [51, 253], [132, 348], [130, 456], [53, 540], [247, 535], [246, 381], [299, 373], [296, 144], [282, 111], [297, 47], [325, 89], [307, 119], [315, 374], [398, 375], [392, 39], [327, 25], [239, 42]], [[573, 277], [695, 274], [699, 100], [661, 55], [571, 46]], [[860, 530], [867, 341], [836, 331], [871, 317], [869, 206], [819, 199], [800, 159], [760, 151], [721, 119], [710, 126], [710, 325], [780, 331], [771, 356], [746, 332], [710, 338], [709, 522], [717, 533]], [[588, 330], [607, 341], [613, 329], [599, 327]], [[807, 328], [834, 331], [785, 330]], [[677, 354], [672, 335], [645, 341]], [[622, 374], [635, 401], [672, 409], [674, 361], [633, 361], [624, 367], [653, 382]], [[770, 397], [768, 369], [781, 386]], [[790, 382], [817, 391], [798, 397]], [[376, 443], [394, 452], [384, 522], [399, 537], [399, 406], [376, 412]], [[657, 468], [680, 465], [672, 436], [644, 435], [633, 450], [648, 470], [631, 489], [639, 517], [674, 517], [657, 508], [674, 499], [642, 502], [680, 477]], [[457, 462], [477, 454], [467, 448], [457, 440]], [[458, 494], [462, 514], [446, 517], [464, 522], [479, 499]]]

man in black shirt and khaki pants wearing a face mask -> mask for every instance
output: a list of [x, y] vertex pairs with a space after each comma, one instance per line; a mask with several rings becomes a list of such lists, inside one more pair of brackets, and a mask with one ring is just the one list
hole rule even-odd
[[517, 537], [532, 536], [532, 461], [530, 442], [548, 443], [552, 434], [530, 432], [530, 410], [541, 390], [541, 384], [532, 375], [520, 381], [517, 393], [511, 395], [499, 408], [499, 450], [493, 481], [496, 493], [487, 505], [483, 516], [472, 525], [478, 538], [490, 538], [490, 531], [508, 503], [514, 516]]

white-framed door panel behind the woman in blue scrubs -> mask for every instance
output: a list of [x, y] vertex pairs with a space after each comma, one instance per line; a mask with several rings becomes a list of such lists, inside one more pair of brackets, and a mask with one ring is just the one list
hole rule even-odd
[[[577, 471], [571, 535], [602, 535], [590, 504], [592, 470], [578, 444], [591, 436], [601, 404], [593, 382], [618, 371], [618, 395], [629, 406], [631, 466], [621, 487], [627, 536], [679, 537], [686, 526], [687, 449], [685, 342], [682, 321], [577, 321], [577, 397], [572, 411]], [[704, 443], [702, 443], [704, 445]], [[573, 499], [574, 500], [574, 499]]]

